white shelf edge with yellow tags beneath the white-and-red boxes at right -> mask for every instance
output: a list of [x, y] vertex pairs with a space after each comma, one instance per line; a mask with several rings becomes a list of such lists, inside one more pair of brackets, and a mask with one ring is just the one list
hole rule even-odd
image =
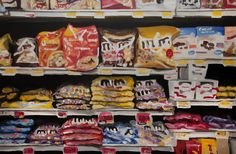
[[170, 100], [177, 108], [188, 109], [192, 106], [215, 106], [232, 109], [236, 106], [236, 99], [212, 99], [212, 100]]

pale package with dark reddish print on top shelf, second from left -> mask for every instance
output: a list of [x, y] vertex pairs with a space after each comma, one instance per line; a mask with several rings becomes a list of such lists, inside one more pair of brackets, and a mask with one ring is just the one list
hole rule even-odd
[[47, 10], [49, 0], [21, 0], [21, 8], [26, 10]]

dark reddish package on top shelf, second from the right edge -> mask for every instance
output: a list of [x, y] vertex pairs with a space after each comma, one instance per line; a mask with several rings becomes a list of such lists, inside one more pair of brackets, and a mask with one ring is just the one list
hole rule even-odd
[[201, 0], [201, 8], [219, 9], [224, 7], [224, 0]]

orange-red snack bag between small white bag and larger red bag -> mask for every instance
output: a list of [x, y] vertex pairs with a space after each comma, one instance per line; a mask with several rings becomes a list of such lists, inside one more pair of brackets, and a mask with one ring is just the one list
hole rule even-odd
[[39, 65], [41, 67], [64, 67], [61, 37], [64, 29], [53, 32], [41, 32], [37, 36]]

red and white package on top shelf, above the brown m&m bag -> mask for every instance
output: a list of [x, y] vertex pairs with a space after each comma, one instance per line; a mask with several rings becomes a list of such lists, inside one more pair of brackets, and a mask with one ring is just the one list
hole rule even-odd
[[135, 9], [135, 0], [102, 0], [102, 9]]

